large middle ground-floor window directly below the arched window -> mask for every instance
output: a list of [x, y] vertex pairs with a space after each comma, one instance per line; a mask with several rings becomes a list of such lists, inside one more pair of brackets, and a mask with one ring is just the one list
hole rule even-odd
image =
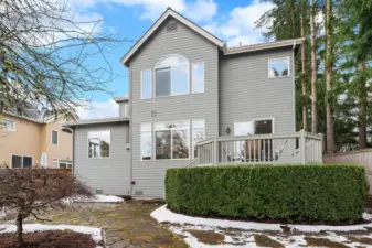
[[155, 123], [156, 159], [190, 158], [190, 120]]

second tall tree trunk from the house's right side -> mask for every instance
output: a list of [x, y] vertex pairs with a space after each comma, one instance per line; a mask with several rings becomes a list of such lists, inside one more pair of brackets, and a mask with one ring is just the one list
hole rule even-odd
[[316, 7], [310, 0], [310, 30], [311, 30], [311, 132], [318, 132], [318, 108], [317, 108], [317, 36], [316, 36]]

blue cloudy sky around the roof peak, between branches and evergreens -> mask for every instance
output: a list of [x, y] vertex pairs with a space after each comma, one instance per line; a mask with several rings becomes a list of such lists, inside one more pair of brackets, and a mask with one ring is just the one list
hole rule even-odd
[[[128, 43], [110, 50], [107, 60], [113, 66], [115, 78], [107, 86], [114, 96], [128, 93], [128, 72], [119, 62], [120, 57], [160, 17], [171, 7], [209, 30], [228, 46], [263, 42], [261, 32], [254, 22], [267, 10], [270, 3], [259, 0], [71, 0], [72, 10], [79, 20], [103, 19], [100, 31], [109, 31], [126, 37]], [[77, 20], [78, 21], [78, 20]], [[94, 61], [100, 65], [103, 61]], [[83, 119], [117, 116], [117, 106], [111, 95], [95, 93], [88, 108], [78, 108]]]

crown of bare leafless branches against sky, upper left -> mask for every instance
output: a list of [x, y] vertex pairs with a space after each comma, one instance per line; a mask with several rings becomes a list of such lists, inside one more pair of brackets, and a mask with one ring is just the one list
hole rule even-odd
[[0, 112], [32, 103], [56, 114], [87, 93], [109, 93], [106, 55], [125, 40], [102, 30], [102, 19], [81, 21], [68, 3], [0, 1]]

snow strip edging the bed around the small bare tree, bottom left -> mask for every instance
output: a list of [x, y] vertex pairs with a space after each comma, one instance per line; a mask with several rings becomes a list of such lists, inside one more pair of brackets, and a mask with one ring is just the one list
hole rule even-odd
[[[23, 233], [45, 231], [45, 230], [72, 230], [75, 233], [91, 235], [92, 239], [98, 244], [103, 240], [100, 228], [88, 226], [72, 226], [72, 225], [43, 225], [43, 224], [24, 224]], [[15, 233], [15, 225], [0, 225], [0, 234]], [[97, 246], [98, 248], [99, 246]]]

